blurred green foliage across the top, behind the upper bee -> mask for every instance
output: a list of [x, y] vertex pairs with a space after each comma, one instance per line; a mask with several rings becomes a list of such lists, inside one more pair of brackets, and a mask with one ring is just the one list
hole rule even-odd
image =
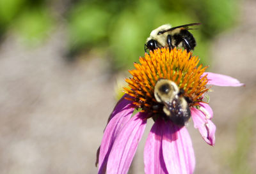
[[[111, 55], [113, 69], [131, 68], [144, 54], [150, 32], [163, 24], [202, 22], [191, 31], [197, 41], [195, 55], [209, 64], [211, 40], [237, 22], [237, 0], [182, 1], [58, 1], [1, 0], [1, 35], [13, 29], [28, 45], [47, 40], [49, 31], [64, 23], [68, 30], [68, 59], [90, 50]], [[60, 13], [61, 11], [61, 13]]]

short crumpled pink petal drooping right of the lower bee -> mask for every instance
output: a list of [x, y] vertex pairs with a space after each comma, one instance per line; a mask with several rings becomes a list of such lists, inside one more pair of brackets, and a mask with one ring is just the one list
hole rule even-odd
[[214, 123], [205, 117], [204, 113], [196, 108], [191, 108], [191, 117], [194, 122], [194, 127], [199, 130], [204, 140], [209, 145], [215, 144], [216, 126]]

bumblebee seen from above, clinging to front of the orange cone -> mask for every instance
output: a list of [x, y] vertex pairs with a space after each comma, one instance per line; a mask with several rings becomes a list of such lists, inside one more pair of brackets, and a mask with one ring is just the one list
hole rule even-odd
[[154, 88], [154, 96], [163, 104], [163, 112], [168, 119], [178, 126], [184, 126], [191, 117], [189, 101], [182, 94], [183, 90], [172, 80], [160, 78]]

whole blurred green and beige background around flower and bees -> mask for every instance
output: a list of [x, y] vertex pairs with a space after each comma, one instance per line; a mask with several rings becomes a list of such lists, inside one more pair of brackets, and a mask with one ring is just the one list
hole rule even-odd
[[[188, 125], [195, 173], [256, 173], [256, 1], [0, 0], [0, 173], [97, 173], [96, 151], [132, 62], [162, 24], [191, 31], [212, 87], [216, 145]], [[129, 173], [143, 172], [141, 140]]]

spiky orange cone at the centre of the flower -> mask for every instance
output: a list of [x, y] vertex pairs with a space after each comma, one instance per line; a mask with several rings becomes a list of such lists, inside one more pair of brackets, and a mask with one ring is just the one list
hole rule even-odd
[[202, 94], [209, 90], [205, 86], [207, 75], [202, 76], [207, 66], [197, 66], [198, 62], [198, 57], [192, 57], [191, 52], [176, 48], [171, 51], [158, 48], [150, 55], [145, 54], [145, 57], [140, 57], [140, 63], [134, 62], [135, 69], [129, 71], [132, 78], [125, 79], [131, 88], [124, 87], [125, 93], [130, 96], [126, 99], [131, 100], [134, 107], [141, 108], [141, 112], [162, 112], [153, 108], [159, 105], [154, 98], [154, 87], [159, 78], [165, 78], [184, 90], [182, 95], [191, 101], [189, 106], [198, 105], [202, 101]]

